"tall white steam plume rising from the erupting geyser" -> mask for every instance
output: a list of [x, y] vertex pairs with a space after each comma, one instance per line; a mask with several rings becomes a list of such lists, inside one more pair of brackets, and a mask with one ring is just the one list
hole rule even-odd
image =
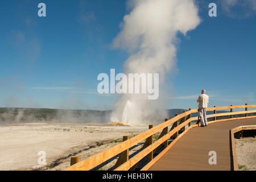
[[[129, 6], [132, 10], [124, 16], [113, 47], [130, 53], [124, 64], [126, 74], [159, 73], [161, 85], [175, 67], [177, 33], [185, 35], [199, 25], [198, 9], [193, 0], [130, 0]], [[129, 124], [163, 119], [167, 114], [162, 99], [148, 101], [146, 94], [123, 94], [111, 119], [121, 121], [123, 112]], [[133, 106], [125, 107], [127, 101]]]

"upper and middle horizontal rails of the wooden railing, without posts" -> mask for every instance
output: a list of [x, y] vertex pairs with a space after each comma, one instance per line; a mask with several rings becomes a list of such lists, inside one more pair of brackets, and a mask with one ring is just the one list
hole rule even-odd
[[[220, 109], [237, 109], [237, 108], [246, 108], [246, 111], [238, 111], [234, 113], [239, 113], [239, 114], [245, 114], [245, 113], [253, 113], [256, 112], [256, 110], [253, 111], [247, 111], [247, 107], [256, 107], [256, 105], [240, 105], [240, 106], [224, 106], [224, 107], [209, 107], [207, 111], [209, 110], [220, 110]], [[160, 130], [163, 130], [164, 128], [172, 125], [173, 123], [179, 121], [181, 118], [187, 117], [187, 115], [190, 115], [189, 119], [185, 119], [182, 124], [179, 126], [175, 127], [173, 130], [169, 131], [167, 134], [165, 134], [162, 138], [158, 139], [156, 142], [150, 144], [146, 148], [144, 148], [142, 151], [140, 151], [138, 154], [133, 156], [133, 158], [129, 159], [127, 162], [123, 163], [121, 166], [116, 168], [117, 170], [122, 170], [122, 169], [129, 169], [129, 167], [132, 167], [133, 164], [136, 164], [139, 160], [141, 160], [144, 156], [146, 156], [149, 152], [152, 150], [155, 150], [156, 147], [160, 146], [164, 142], [164, 140], [168, 140], [173, 134], [177, 133], [181, 128], [185, 127], [189, 122], [193, 121], [191, 118], [192, 113], [197, 113], [198, 109], [193, 109], [193, 110], [188, 110], [184, 111], [184, 113], [176, 115], [174, 118], [168, 119], [168, 121], [159, 124], [158, 126], [152, 127], [152, 129], [149, 129], [147, 131], [144, 131], [143, 133], [125, 140], [122, 143], [117, 144], [116, 146], [113, 146], [109, 148], [108, 150], [102, 151], [96, 155], [93, 155], [89, 157], [88, 159], [85, 159], [79, 163], [74, 164], [73, 166], [65, 169], [67, 171], [72, 171], [72, 170], [90, 170], [94, 167], [97, 167], [98, 165], [104, 163], [106, 160], [109, 160], [113, 158], [114, 156], [120, 154], [121, 152], [135, 146], [135, 144], [138, 144], [144, 139], [147, 139], [148, 137], [154, 135], [155, 133], [158, 133]], [[230, 113], [218, 113], [218, 114], [213, 114], [212, 117], [219, 117], [221, 114], [223, 115], [232, 115], [234, 114], [232, 112]], [[246, 118], [246, 117], [243, 117]], [[236, 119], [236, 118], [230, 118], [230, 119]], [[223, 121], [225, 119], [222, 119]], [[162, 143], [161, 143], [162, 142]], [[151, 151], [150, 151], [151, 150]], [[147, 154], [146, 154], [147, 153]], [[146, 154], [146, 155], [145, 155]], [[140, 156], [139, 156], [140, 155]]]

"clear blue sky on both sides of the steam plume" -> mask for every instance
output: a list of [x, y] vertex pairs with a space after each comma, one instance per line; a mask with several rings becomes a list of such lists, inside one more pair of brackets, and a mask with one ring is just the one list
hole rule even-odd
[[[47, 17], [38, 16], [40, 2]], [[167, 109], [196, 108], [201, 89], [209, 106], [255, 104], [255, 11], [212, 2], [217, 17], [208, 16], [210, 1], [197, 1], [202, 22], [179, 35]], [[113, 109], [120, 96], [97, 94], [97, 76], [123, 72], [129, 55], [111, 45], [127, 13], [119, 0], [1, 1], [0, 107]]]

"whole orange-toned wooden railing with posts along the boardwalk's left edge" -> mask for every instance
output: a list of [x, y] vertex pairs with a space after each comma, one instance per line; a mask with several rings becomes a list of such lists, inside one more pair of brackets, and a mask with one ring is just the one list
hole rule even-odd
[[[256, 105], [241, 105], [241, 106], [225, 106], [225, 107], [210, 107], [207, 111], [213, 110], [214, 114], [207, 115], [207, 118], [213, 118], [213, 121], [208, 123], [214, 122], [221, 122], [221, 121], [229, 121], [234, 119], [245, 119], [245, 118], [256, 118], [256, 115], [248, 116], [249, 113], [256, 113], [256, 110], [247, 110], [248, 107], [256, 107]], [[233, 109], [238, 108], [245, 108], [245, 111], [236, 111], [233, 112]], [[216, 110], [223, 110], [223, 109], [230, 109], [229, 113], [218, 113]], [[116, 146], [109, 148], [99, 154], [93, 155], [88, 159], [85, 159], [81, 162], [73, 164], [71, 167], [65, 169], [66, 171], [87, 171], [97, 167], [98, 165], [106, 162], [107, 160], [113, 158], [114, 156], [119, 154], [119, 158], [114, 165], [114, 170], [122, 171], [122, 170], [134, 170], [137, 167], [138, 162], [143, 159], [145, 156], [148, 156], [149, 162], [144, 166], [141, 170], [147, 170], [150, 168], [158, 159], [160, 159], [163, 154], [165, 154], [176, 142], [182, 137], [187, 131], [189, 131], [192, 127], [200, 126], [198, 125], [191, 125], [192, 121], [198, 121], [199, 117], [191, 117], [192, 113], [197, 113], [197, 109], [189, 109], [188, 111], [183, 111], [182, 114], [176, 114], [174, 118], [167, 119], [166, 121], [161, 123], [158, 126], [153, 127], [153, 125], [149, 126], [149, 130], [145, 131], [142, 134], [139, 134], [133, 138], [124, 137], [123, 142], [117, 144]], [[233, 115], [238, 114], [245, 114], [245, 117], [236, 117], [234, 118]], [[217, 119], [217, 117], [227, 116], [229, 115], [230, 118], [225, 119]], [[168, 131], [168, 126], [171, 126], [171, 129]], [[188, 125], [187, 129], [185, 126]], [[153, 142], [153, 135], [158, 133], [162, 130], [162, 133], [159, 135], [159, 138]], [[168, 140], [173, 139], [169, 144]], [[134, 155], [132, 158], [129, 159], [129, 148], [135, 146], [139, 142], [142, 142], [144, 139], [143, 147], [138, 154]], [[160, 145], [164, 145], [164, 150], [160, 152], [158, 155], [153, 158], [153, 154]]]

